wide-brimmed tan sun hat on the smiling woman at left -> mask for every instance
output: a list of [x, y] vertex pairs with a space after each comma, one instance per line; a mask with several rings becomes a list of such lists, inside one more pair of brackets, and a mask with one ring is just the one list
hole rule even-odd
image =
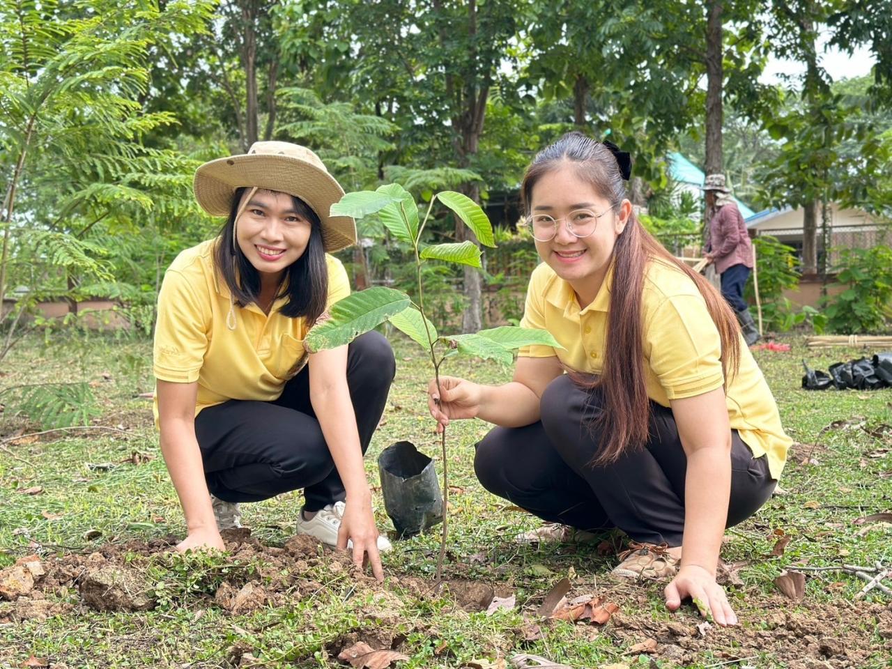
[[353, 219], [329, 213], [343, 196], [343, 188], [306, 146], [255, 142], [248, 153], [205, 162], [195, 170], [195, 200], [211, 216], [228, 216], [235, 189], [243, 186], [287, 193], [309, 204], [322, 222], [327, 252], [356, 244]]

